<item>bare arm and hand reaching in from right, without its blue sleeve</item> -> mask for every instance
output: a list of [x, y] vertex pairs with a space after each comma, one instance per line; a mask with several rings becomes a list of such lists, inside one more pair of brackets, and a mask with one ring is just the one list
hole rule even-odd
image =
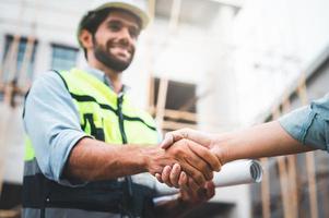
[[[168, 148], [181, 138], [191, 140], [207, 147], [219, 157], [221, 165], [237, 159], [290, 155], [316, 149], [303, 145], [289, 135], [279, 121], [225, 134], [209, 134], [183, 129], [168, 133], [162, 146]], [[164, 170], [162, 174], [156, 174], [156, 178], [169, 186], [181, 186], [187, 183], [187, 180], [181, 179], [180, 175], [180, 171], [169, 169]]]

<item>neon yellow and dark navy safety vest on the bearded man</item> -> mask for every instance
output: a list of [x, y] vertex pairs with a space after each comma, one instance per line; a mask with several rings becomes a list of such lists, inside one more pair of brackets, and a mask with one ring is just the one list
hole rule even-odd
[[[81, 129], [86, 134], [118, 146], [157, 143], [154, 120], [133, 107], [126, 95], [117, 95], [102, 81], [78, 69], [58, 75], [78, 108]], [[133, 183], [130, 177], [77, 187], [51, 181], [42, 173], [28, 135], [25, 148], [23, 217], [74, 217], [75, 211], [79, 217], [91, 218], [103, 217], [104, 213], [142, 217], [144, 208], [152, 207], [152, 190]]]

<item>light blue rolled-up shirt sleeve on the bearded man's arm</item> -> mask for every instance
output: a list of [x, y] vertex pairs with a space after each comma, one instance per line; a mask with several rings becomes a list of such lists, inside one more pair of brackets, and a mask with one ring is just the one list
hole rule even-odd
[[79, 112], [55, 72], [44, 73], [32, 86], [23, 121], [45, 177], [72, 185], [62, 177], [63, 168], [73, 146], [89, 135], [81, 130]]

